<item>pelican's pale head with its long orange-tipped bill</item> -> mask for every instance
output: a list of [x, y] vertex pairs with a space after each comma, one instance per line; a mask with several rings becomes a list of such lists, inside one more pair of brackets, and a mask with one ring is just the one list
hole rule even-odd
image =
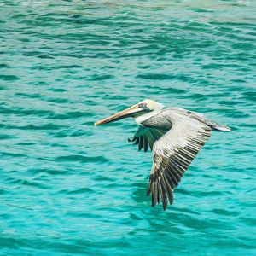
[[164, 108], [164, 105], [160, 104], [159, 102], [155, 102], [153, 100], [143, 100], [142, 102], [139, 102], [130, 108], [126, 108], [125, 110], [115, 113], [108, 118], [97, 121], [94, 125], [103, 125], [128, 117], [137, 118], [138, 116], [141, 116], [145, 113], [152, 112], [154, 110], [160, 110], [162, 108]]

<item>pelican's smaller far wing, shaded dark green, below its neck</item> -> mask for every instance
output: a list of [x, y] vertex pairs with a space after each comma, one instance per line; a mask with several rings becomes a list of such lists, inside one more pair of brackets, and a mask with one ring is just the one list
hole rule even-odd
[[138, 150], [141, 151], [144, 148], [144, 152], [148, 151], [148, 146], [152, 150], [156, 141], [162, 137], [166, 131], [156, 128], [148, 128], [140, 125], [135, 135], [128, 139], [128, 142], [138, 145]]

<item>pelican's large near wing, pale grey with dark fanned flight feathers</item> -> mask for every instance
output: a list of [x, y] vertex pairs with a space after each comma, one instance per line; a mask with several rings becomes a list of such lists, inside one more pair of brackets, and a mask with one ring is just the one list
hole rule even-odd
[[152, 206], [162, 201], [166, 210], [168, 200], [172, 205], [173, 190], [211, 136], [211, 131], [208, 125], [181, 116], [172, 123], [172, 129], [154, 143], [147, 193], [152, 193]]

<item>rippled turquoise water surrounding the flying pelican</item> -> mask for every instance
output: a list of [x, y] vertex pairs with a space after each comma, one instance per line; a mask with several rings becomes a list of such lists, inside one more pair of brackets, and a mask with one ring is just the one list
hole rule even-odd
[[[204, 3], [202, 3], [204, 2]], [[0, 0], [1, 255], [256, 255], [256, 2]], [[166, 212], [146, 196], [144, 98], [215, 132]]]

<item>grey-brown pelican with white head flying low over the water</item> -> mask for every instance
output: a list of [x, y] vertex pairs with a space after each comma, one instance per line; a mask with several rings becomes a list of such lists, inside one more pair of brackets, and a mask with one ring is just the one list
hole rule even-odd
[[152, 194], [152, 206], [162, 201], [166, 210], [168, 201], [173, 203], [173, 190], [189, 168], [195, 155], [201, 150], [211, 131], [231, 131], [218, 125], [203, 114], [183, 108], [164, 108], [153, 100], [143, 100], [95, 125], [107, 124], [132, 117], [139, 125], [134, 137], [128, 139], [138, 145], [138, 150], [148, 148], [153, 153], [153, 165], [148, 182], [147, 195]]

